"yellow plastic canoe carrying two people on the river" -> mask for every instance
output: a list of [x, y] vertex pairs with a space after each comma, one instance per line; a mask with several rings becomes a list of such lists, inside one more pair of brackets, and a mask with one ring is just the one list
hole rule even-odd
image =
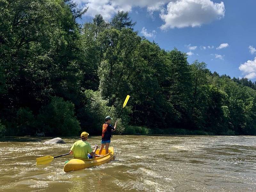
[[[96, 151], [96, 154], [99, 154], [98, 149]], [[102, 150], [101, 154], [105, 154], [105, 149]], [[96, 157], [94, 159], [71, 159], [67, 164], [64, 166], [64, 171], [69, 172], [69, 171], [74, 171], [74, 170], [79, 170], [79, 169], [84, 169], [86, 167], [92, 167], [95, 165], [100, 165], [104, 163], [108, 163], [113, 159], [114, 156], [114, 148], [110, 147], [108, 148], [108, 154], [100, 157]]]

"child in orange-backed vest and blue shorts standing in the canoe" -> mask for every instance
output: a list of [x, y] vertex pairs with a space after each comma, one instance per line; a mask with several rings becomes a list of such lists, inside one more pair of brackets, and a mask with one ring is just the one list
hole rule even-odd
[[112, 135], [112, 132], [116, 130], [116, 124], [117, 124], [117, 121], [116, 121], [115, 126], [113, 127], [113, 125], [110, 124], [111, 120], [112, 118], [110, 116], [106, 116], [105, 123], [102, 125], [102, 138], [101, 138], [99, 155], [101, 155], [104, 145], [106, 145], [105, 147], [106, 155], [108, 154], [108, 147], [110, 144], [111, 135]]

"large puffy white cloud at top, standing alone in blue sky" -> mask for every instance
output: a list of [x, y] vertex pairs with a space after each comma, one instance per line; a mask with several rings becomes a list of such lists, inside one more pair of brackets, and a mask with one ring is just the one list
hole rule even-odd
[[223, 2], [214, 3], [211, 0], [179, 0], [167, 4], [162, 10], [160, 18], [164, 25], [160, 28], [198, 27], [213, 20], [223, 18], [225, 6]]

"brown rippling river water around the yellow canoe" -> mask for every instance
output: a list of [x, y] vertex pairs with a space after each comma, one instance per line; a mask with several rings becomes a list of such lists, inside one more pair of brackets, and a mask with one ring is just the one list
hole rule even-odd
[[[36, 166], [36, 158], [69, 152], [52, 138], [14, 138], [0, 142], [0, 191], [256, 191], [255, 136], [114, 135], [115, 160], [65, 173], [72, 156]], [[90, 137], [92, 146], [100, 137]]]

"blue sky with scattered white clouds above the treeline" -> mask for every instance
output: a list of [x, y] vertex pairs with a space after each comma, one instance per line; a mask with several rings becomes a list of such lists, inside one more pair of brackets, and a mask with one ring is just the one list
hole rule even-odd
[[138, 35], [187, 52], [220, 75], [256, 81], [256, 0], [74, 0], [89, 7], [80, 23], [128, 11]]

